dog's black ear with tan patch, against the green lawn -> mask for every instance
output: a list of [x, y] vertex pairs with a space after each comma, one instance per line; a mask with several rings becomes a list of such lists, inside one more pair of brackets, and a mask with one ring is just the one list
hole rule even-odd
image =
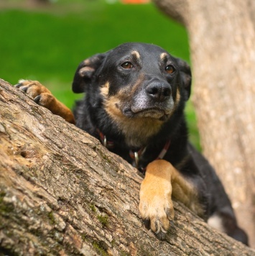
[[73, 92], [83, 93], [87, 86], [91, 84], [94, 73], [103, 62], [105, 54], [96, 54], [91, 58], [83, 60], [75, 72], [73, 78]]

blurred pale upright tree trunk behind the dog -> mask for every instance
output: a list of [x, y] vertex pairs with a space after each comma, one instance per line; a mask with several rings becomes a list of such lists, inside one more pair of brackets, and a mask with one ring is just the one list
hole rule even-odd
[[155, 2], [187, 28], [204, 155], [255, 248], [254, 1]]

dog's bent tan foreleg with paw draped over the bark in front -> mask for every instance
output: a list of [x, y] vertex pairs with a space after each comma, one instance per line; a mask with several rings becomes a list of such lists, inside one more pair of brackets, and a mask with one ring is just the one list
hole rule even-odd
[[164, 239], [175, 213], [172, 196], [198, 215], [203, 215], [198, 193], [193, 183], [184, 178], [165, 160], [155, 160], [147, 166], [140, 190], [139, 211], [147, 227], [159, 239]]

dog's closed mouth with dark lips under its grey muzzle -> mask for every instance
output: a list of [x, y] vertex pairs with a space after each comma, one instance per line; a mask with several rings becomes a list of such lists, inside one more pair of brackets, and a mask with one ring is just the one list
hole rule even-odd
[[135, 111], [125, 109], [122, 113], [129, 118], [149, 118], [160, 121], [164, 121], [170, 116], [169, 111], [163, 109], [136, 109]]

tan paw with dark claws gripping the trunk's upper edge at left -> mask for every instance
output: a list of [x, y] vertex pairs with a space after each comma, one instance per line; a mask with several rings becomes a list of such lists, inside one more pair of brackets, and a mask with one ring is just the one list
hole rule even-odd
[[38, 81], [22, 79], [15, 87], [27, 93], [37, 104], [47, 109], [51, 109], [52, 104], [55, 103], [52, 93]]

